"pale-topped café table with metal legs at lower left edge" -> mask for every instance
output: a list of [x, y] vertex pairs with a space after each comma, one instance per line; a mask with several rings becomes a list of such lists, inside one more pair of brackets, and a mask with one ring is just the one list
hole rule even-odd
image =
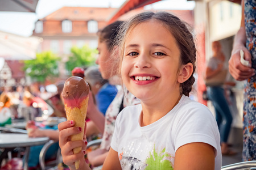
[[28, 154], [31, 146], [44, 145], [49, 141], [48, 137], [43, 138], [29, 138], [27, 134], [17, 133], [0, 133], [0, 148], [4, 151], [0, 155], [0, 165], [2, 160], [7, 155], [7, 152], [13, 151], [16, 147], [26, 147], [24, 154], [24, 170], [28, 169]]

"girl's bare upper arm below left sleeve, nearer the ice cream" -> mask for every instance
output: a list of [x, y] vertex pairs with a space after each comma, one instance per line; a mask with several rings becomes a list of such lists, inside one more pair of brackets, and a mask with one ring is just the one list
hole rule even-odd
[[111, 147], [109, 150], [109, 154], [105, 159], [102, 169], [104, 169], [104, 170], [112, 170], [112, 169], [122, 170], [120, 162], [119, 162], [119, 158], [118, 158], [118, 152], [113, 150], [113, 148], [111, 148]]

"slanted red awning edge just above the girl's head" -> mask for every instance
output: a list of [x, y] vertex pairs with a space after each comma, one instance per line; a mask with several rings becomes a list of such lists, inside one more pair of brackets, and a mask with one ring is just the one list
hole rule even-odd
[[110, 16], [108, 24], [113, 23], [115, 20], [119, 18], [119, 16], [125, 14], [126, 12], [129, 12], [136, 8], [143, 7], [158, 1], [161, 1], [161, 0], [126, 0], [123, 3], [123, 5], [119, 7], [117, 11], [113, 13], [113, 15]]

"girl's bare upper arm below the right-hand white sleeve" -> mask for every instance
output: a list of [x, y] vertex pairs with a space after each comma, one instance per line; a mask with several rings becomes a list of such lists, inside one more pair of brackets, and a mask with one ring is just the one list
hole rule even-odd
[[214, 147], [207, 143], [188, 143], [175, 153], [174, 169], [214, 169]]

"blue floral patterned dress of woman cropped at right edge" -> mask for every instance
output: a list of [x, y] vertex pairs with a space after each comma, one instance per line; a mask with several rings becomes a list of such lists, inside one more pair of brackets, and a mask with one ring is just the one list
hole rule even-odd
[[[245, 0], [246, 48], [256, 69], [256, 2]], [[243, 161], [256, 160], [256, 75], [247, 79], [243, 99]]]

